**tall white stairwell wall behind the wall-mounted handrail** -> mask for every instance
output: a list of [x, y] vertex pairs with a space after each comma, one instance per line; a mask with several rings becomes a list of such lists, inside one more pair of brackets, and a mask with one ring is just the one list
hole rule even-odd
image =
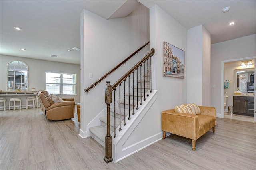
[[[83, 90], [97, 81], [105, 73], [118, 65], [136, 49], [149, 40], [149, 10], [139, 6], [125, 18], [106, 20], [92, 12], [83, 10], [81, 14], [81, 127], [80, 136], [87, 137], [87, 125], [106, 108], [104, 87], [109, 80], [113, 84], [142, 57], [149, 53], [147, 46], [103, 80], [94, 89]], [[93, 79], [88, 79], [89, 73]]]

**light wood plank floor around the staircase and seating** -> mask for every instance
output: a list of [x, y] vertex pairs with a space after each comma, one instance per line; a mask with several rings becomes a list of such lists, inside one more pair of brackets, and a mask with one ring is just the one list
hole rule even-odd
[[255, 170], [255, 125], [218, 119], [215, 133], [196, 141], [196, 151], [191, 140], [170, 135], [117, 164], [106, 164], [104, 147], [78, 136], [76, 118], [48, 121], [39, 108], [1, 111], [0, 169]]

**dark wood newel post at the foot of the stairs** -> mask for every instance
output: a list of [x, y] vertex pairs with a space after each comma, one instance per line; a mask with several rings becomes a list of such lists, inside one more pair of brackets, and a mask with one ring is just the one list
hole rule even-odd
[[110, 103], [112, 101], [112, 87], [110, 81], [105, 86], [105, 103], [107, 104], [107, 136], [105, 136], [105, 162], [112, 162], [112, 136], [110, 134]]

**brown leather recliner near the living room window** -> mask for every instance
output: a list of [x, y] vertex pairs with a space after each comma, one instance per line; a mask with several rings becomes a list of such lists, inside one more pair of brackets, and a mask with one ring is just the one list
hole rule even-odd
[[46, 116], [46, 119], [53, 121], [60, 121], [64, 119], [71, 119], [75, 113], [75, 102], [74, 98], [63, 98], [61, 102], [54, 103], [49, 93], [45, 90], [40, 90], [36, 94], [39, 101], [40, 107]]

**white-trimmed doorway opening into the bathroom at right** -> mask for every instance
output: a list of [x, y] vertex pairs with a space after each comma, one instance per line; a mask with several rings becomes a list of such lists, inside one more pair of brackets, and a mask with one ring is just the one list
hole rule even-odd
[[[228, 113], [229, 106], [230, 106], [230, 109], [231, 109], [231, 106], [233, 106], [233, 96], [235, 94], [241, 95], [241, 96], [250, 96], [249, 97], [250, 99], [252, 99], [252, 97], [253, 97], [254, 101], [256, 101], [255, 100], [256, 96], [253, 93], [254, 89], [255, 89], [256, 81], [255, 81], [255, 76], [252, 76], [252, 75], [254, 75], [253, 73], [256, 72], [255, 67], [254, 67], [255, 59], [256, 59], [256, 57], [247, 57], [247, 58], [222, 61], [222, 68], [221, 68], [222, 69], [221, 70], [222, 88], [221, 88], [221, 95], [220, 95], [221, 96], [220, 101], [221, 101], [221, 108], [222, 108], [221, 109], [221, 117], [222, 118], [226, 117], [226, 118], [231, 118], [231, 119], [238, 119], [241, 121], [256, 122], [256, 114], [254, 113], [254, 111], [256, 110], [256, 104], [254, 105], [254, 107], [250, 106], [250, 107], [252, 107], [252, 109], [250, 109], [249, 112], [252, 112], [251, 114], [253, 114], [253, 116], [248, 116], [246, 114], [238, 115], [238, 114], [234, 114], [234, 113]], [[245, 61], [245, 60], [252, 60], [252, 65], [241, 65], [242, 61]], [[248, 70], [246, 70], [246, 69], [248, 69]], [[244, 74], [242, 74], [242, 72], [239, 72], [239, 71], [247, 71], [247, 72], [244, 72]], [[250, 82], [250, 77], [251, 77], [251, 79], [253, 78], [253, 80], [254, 80], [253, 82], [252, 82], [252, 80]], [[224, 88], [225, 82], [227, 82], [227, 81], [230, 83], [229, 87]], [[252, 84], [250, 84], [250, 83], [252, 83]], [[234, 93], [235, 91], [238, 91], [238, 93]], [[242, 93], [242, 92], [244, 92], [244, 93]], [[226, 96], [228, 96], [228, 97], [226, 97]], [[234, 106], [233, 106], [233, 110], [234, 110]]]

